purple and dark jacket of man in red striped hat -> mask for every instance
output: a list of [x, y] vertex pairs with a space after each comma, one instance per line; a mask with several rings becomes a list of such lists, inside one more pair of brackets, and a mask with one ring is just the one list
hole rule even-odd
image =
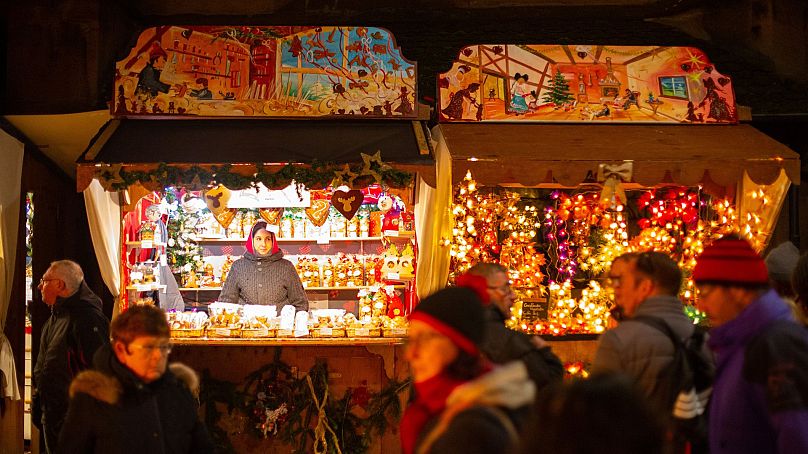
[[710, 452], [808, 452], [808, 331], [774, 290], [713, 328]]

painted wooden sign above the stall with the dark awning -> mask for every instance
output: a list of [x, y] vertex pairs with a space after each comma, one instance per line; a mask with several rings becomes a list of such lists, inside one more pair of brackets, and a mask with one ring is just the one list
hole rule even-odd
[[415, 118], [416, 65], [376, 27], [149, 28], [113, 115]]

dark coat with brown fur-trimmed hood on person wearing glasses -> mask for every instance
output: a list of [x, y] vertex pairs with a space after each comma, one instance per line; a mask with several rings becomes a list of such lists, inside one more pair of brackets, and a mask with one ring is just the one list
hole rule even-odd
[[211, 453], [213, 444], [197, 415], [199, 379], [189, 367], [169, 365], [143, 383], [107, 346], [94, 369], [70, 385], [70, 409], [58, 453]]

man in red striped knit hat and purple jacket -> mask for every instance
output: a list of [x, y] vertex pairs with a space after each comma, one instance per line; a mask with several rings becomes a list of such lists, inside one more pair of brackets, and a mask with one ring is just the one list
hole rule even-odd
[[808, 452], [808, 331], [746, 240], [721, 238], [696, 260], [697, 304], [717, 357], [710, 452]]

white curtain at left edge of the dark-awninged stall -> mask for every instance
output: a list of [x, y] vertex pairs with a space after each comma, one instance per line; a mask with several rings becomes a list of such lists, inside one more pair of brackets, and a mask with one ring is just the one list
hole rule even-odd
[[98, 180], [93, 180], [84, 190], [84, 205], [93, 239], [95, 257], [101, 268], [101, 277], [107, 284], [115, 305], [113, 318], [118, 315], [121, 288], [121, 203], [117, 192], [107, 192]]

